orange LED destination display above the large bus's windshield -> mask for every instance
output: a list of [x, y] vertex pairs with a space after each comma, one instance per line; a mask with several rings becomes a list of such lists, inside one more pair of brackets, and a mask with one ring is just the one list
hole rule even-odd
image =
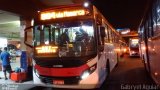
[[49, 19], [64, 18], [64, 17], [83, 16], [85, 14], [86, 14], [86, 11], [84, 9], [45, 11], [45, 12], [41, 12], [40, 19], [49, 20]]

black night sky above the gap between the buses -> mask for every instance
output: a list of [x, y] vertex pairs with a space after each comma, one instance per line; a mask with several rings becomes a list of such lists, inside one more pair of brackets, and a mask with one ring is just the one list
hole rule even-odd
[[93, 4], [114, 28], [137, 30], [147, 0], [94, 0]]

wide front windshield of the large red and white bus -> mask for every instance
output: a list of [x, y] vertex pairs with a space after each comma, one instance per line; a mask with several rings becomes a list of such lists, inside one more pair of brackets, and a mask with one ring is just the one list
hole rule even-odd
[[56, 52], [52, 53], [55, 57], [86, 56], [96, 52], [91, 20], [36, 25], [34, 33], [34, 46], [56, 46]]

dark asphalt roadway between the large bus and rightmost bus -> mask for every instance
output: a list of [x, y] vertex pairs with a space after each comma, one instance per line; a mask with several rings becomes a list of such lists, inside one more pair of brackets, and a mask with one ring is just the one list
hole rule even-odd
[[140, 57], [124, 55], [100, 90], [159, 90]]

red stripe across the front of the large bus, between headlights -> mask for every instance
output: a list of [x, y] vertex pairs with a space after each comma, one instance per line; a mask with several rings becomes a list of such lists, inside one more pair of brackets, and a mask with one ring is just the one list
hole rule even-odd
[[74, 68], [46, 68], [39, 65], [35, 65], [38, 73], [45, 76], [80, 76], [84, 70], [87, 70], [89, 66], [87, 64]]

